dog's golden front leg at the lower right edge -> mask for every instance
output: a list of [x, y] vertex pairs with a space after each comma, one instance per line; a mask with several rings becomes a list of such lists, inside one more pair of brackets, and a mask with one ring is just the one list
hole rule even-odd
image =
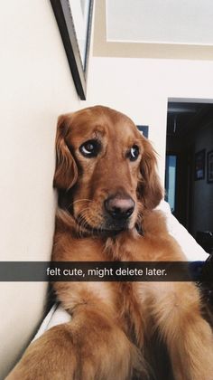
[[153, 282], [151, 312], [167, 344], [176, 380], [213, 379], [213, 335], [192, 283]]

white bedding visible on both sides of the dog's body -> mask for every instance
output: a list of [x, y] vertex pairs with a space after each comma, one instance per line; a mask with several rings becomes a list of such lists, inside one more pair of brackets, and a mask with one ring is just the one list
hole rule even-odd
[[[169, 204], [162, 201], [157, 209], [161, 210], [165, 214], [169, 233], [171, 233], [177, 242], [179, 242], [188, 261], [206, 261], [208, 258], [208, 253], [200, 247], [190, 233], [188, 233], [181, 223], [179, 223], [178, 220], [171, 214]], [[70, 318], [71, 317], [67, 311], [62, 309], [60, 305], [55, 304], [51, 308], [48, 315], [43, 319], [42, 325], [33, 340], [41, 337], [41, 335], [49, 328], [60, 325], [60, 323], [69, 322]]]

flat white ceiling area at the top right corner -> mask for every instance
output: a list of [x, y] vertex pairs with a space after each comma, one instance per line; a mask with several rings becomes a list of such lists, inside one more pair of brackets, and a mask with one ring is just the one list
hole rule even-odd
[[106, 41], [213, 45], [213, 0], [106, 0]]

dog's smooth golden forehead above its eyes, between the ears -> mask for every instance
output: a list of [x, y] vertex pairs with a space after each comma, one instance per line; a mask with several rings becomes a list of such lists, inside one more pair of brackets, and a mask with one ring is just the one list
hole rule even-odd
[[133, 120], [125, 114], [100, 106], [72, 114], [69, 127], [73, 138], [87, 138], [94, 133], [115, 138], [138, 138], [139, 133]]

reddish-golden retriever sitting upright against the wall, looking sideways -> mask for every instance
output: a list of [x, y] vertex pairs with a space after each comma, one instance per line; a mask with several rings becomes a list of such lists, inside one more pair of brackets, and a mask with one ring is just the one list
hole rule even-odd
[[[53, 261], [186, 261], [155, 210], [155, 153], [131, 119], [102, 106], [60, 116], [56, 150]], [[35, 340], [8, 379], [213, 379], [212, 330], [194, 283], [53, 286], [72, 318]]]

